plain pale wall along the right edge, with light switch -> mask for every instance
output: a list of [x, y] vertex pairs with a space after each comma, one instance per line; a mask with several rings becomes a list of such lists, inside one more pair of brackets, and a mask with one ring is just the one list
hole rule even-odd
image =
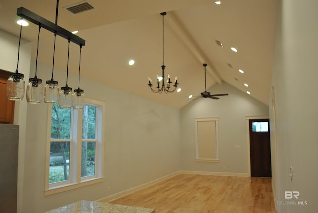
[[[280, 213], [318, 212], [317, 8], [317, 0], [280, 0], [272, 75]], [[285, 191], [299, 191], [299, 199], [285, 199]], [[307, 205], [286, 205], [288, 201]]]

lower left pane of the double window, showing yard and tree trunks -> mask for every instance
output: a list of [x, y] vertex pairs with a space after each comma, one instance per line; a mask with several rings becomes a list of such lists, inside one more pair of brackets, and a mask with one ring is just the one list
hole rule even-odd
[[69, 180], [70, 142], [51, 142], [49, 183]]

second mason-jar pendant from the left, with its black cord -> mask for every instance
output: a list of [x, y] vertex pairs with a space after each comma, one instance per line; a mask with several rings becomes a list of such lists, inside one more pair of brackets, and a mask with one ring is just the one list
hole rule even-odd
[[38, 66], [38, 55], [39, 55], [39, 38], [40, 38], [41, 24], [39, 25], [38, 33], [38, 46], [36, 51], [36, 61], [35, 61], [35, 76], [29, 79], [29, 84], [26, 87], [26, 100], [31, 104], [40, 104], [43, 97], [43, 87], [42, 79], [37, 78], [37, 66]]

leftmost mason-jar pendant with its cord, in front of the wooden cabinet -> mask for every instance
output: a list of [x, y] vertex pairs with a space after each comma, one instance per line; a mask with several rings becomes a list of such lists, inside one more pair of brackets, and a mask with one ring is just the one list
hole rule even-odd
[[6, 95], [8, 99], [19, 101], [24, 97], [25, 91], [25, 81], [24, 75], [19, 73], [19, 57], [20, 57], [20, 44], [21, 44], [21, 34], [22, 34], [22, 25], [20, 25], [20, 38], [19, 38], [19, 47], [18, 47], [18, 62], [16, 65], [15, 73], [10, 73], [10, 76], [7, 81]]

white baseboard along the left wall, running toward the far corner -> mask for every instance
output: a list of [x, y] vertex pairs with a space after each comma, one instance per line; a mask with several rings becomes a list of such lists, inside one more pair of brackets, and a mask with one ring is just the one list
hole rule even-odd
[[145, 188], [145, 187], [149, 187], [149, 186], [151, 186], [151, 185], [157, 184], [157, 183], [159, 183], [159, 182], [161, 182], [161, 181], [164, 181], [164, 180], [166, 180], [166, 179], [172, 178], [173, 176], [176, 176], [176, 175], [178, 175], [178, 174], [180, 174], [179, 171], [178, 171], [178, 172], [171, 173], [171, 174], [166, 175], [166, 176], [163, 176], [163, 177], [158, 178], [158, 179], [156, 179], [156, 180], [150, 181], [150, 182], [148, 182], [148, 183], [145, 183], [145, 184], [142, 184], [142, 185], [139, 185], [139, 186], [136, 186], [136, 187], [127, 189], [127, 190], [125, 190], [125, 191], [118, 192], [118, 193], [115, 193], [115, 194], [113, 194], [113, 195], [110, 195], [110, 196], [107, 196], [107, 197], [98, 199], [97, 201], [99, 201], [99, 202], [110, 202], [110, 201], [116, 200], [116, 199], [118, 199], [118, 198], [124, 197], [124, 196], [126, 196], [126, 195], [129, 195], [129, 194], [131, 194], [131, 193], [133, 193], [133, 192], [136, 192], [136, 191], [138, 191], [138, 190], [141, 190], [141, 189], [143, 189], [143, 188]]

